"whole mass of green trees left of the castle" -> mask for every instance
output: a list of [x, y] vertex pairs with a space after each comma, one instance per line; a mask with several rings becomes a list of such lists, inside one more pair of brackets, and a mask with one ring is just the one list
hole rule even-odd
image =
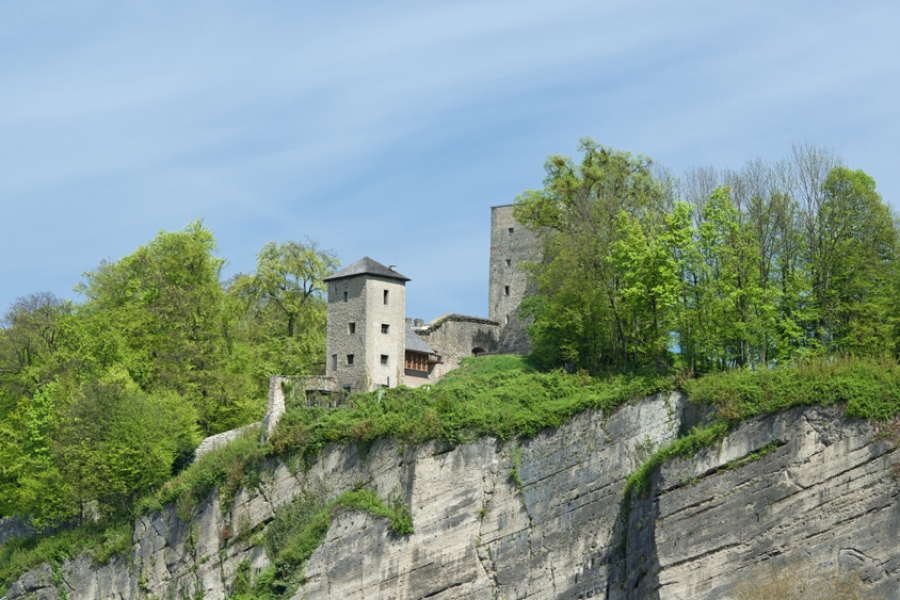
[[258, 420], [270, 375], [325, 353], [314, 242], [270, 243], [227, 282], [197, 221], [84, 274], [72, 303], [17, 300], [0, 320], [0, 517], [126, 514], [199, 441]]

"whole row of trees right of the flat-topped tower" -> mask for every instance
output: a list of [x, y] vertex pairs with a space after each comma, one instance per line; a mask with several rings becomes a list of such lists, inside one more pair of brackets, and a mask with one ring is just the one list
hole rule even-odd
[[710, 372], [834, 355], [896, 356], [898, 230], [875, 181], [832, 152], [700, 168], [582, 140], [517, 198], [533, 358], [590, 371]]

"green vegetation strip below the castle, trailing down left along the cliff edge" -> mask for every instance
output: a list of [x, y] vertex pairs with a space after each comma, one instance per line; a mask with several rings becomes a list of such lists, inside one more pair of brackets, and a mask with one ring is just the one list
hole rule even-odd
[[289, 406], [266, 447], [259, 447], [257, 433], [247, 434], [203, 456], [141, 507], [149, 511], [176, 502], [188, 518], [191, 507], [215, 487], [226, 505], [238, 489], [252, 487], [267, 457], [308, 461], [327, 444], [365, 449], [381, 438], [412, 445], [430, 439], [460, 443], [481, 436], [529, 437], [586, 409], [609, 412], [673, 387], [672, 378], [653, 375], [541, 373], [521, 356], [471, 357], [433, 386], [353, 394], [345, 406], [333, 409]]

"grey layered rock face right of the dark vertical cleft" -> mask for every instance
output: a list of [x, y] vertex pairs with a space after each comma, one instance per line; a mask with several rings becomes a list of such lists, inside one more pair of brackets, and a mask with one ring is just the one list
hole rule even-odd
[[[837, 409], [797, 409], [665, 465], [654, 501], [634, 512], [655, 523], [652, 543], [634, 549], [653, 565], [645, 597], [727, 598], [767, 560], [854, 569], [883, 597], [900, 597], [900, 454], [875, 437]], [[773, 442], [759, 460], [721, 470]]]

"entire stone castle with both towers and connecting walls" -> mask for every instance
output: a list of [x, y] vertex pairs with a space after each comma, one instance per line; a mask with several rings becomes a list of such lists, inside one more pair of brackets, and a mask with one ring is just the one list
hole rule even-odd
[[466, 356], [525, 353], [528, 323], [518, 308], [527, 289], [519, 268], [538, 256], [535, 236], [512, 216], [491, 209], [490, 318], [449, 313], [428, 323], [406, 318], [410, 279], [369, 257], [327, 277], [325, 377], [307, 389], [337, 392], [433, 383]]

